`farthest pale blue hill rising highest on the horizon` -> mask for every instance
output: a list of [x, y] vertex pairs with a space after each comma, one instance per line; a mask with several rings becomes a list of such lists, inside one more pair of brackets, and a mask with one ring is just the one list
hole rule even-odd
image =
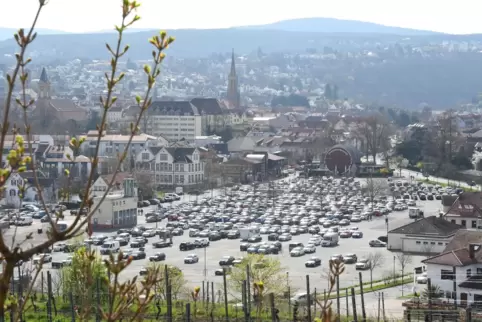
[[326, 32], [326, 33], [375, 33], [405, 36], [435, 35], [436, 32], [416, 30], [392, 26], [384, 26], [372, 22], [356, 20], [341, 20], [333, 18], [303, 18], [283, 20], [267, 25], [245, 26], [240, 29], [269, 29], [297, 32]]

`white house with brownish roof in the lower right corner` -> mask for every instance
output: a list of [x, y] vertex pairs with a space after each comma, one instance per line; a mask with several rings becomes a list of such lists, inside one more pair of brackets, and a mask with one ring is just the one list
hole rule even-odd
[[443, 252], [423, 261], [432, 285], [460, 307], [482, 304], [482, 234], [460, 230]]

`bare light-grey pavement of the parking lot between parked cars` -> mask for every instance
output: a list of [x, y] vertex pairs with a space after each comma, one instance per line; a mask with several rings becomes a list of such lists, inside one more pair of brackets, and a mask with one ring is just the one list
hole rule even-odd
[[[214, 192], [215, 194], [221, 192]], [[210, 193], [206, 194], [207, 196]], [[195, 197], [192, 196], [184, 196], [184, 201], [188, 201], [189, 199], [193, 199]], [[200, 197], [199, 197], [200, 198]], [[181, 201], [182, 202], [182, 201]], [[425, 211], [426, 216], [437, 214], [439, 209], [441, 208], [441, 204], [439, 200], [434, 201], [418, 201], [418, 206], [423, 208]], [[144, 208], [145, 213], [147, 209]], [[73, 219], [72, 216], [69, 214], [66, 215], [66, 220], [71, 221]], [[389, 219], [389, 229], [394, 229], [396, 227], [402, 226], [411, 222], [408, 218], [408, 211], [394, 211], [388, 215]], [[138, 217], [139, 224], [145, 223], [144, 216]], [[166, 224], [166, 220], [158, 223], [158, 227], [163, 227]], [[284, 252], [280, 255], [270, 255], [270, 256], [277, 256], [280, 260], [282, 265], [286, 268], [286, 272], [288, 273], [289, 279], [295, 289], [303, 290], [306, 285], [306, 275], [310, 275], [311, 285], [312, 287], [317, 287], [321, 292], [327, 286], [327, 281], [323, 277], [323, 272], [326, 271], [329, 258], [333, 254], [347, 254], [347, 253], [355, 253], [358, 255], [359, 258], [364, 257], [372, 252], [381, 252], [384, 255], [384, 265], [381, 268], [377, 268], [373, 272], [374, 279], [381, 279], [384, 275], [389, 274], [390, 272], [400, 271], [400, 265], [398, 264], [397, 260], [394, 260], [394, 254], [389, 252], [383, 248], [371, 248], [368, 245], [368, 241], [371, 239], [376, 239], [379, 236], [386, 235], [387, 226], [385, 224], [384, 217], [374, 217], [372, 221], [363, 221], [360, 223], [353, 224], [352, 226], [359, 227], [364, 233], [363, 239], [340, 239], [339, 245], [333, 248], [322, 248], [317, 247], [316, 254], [314, 256], [318, 256], [322, 259], [322, 266], [318, 268], [305, 268], [304, 262], [313, 255], [305, 255], [302, 257], [290, 257], [288, 254], [288, 243], [283, 243], [284, 245]], [[17, 229], [17, 240], [23, 240], [25, 235], [29, 232], [33, 233], [34, 239], [28, 240], [28, 243], [38, 243], [40, 240], [44, 239], [45, 236], [37, 234], [37, 229], [43, 227], [44, 224], [40, 223], [39, 220], [35, 220], [34, 224], [29, 227], [19, 227]], [[147, 227], [156, 227], [156, 224], [146, 224]], [[15, 228], [11, 228], [6, 233], [6, 240], [10, 240], [11, 236]], [[113, 233], [115, 234], [115, 233]], [[95, 234], [94, 234], [95, 235]], [[306, 243], [311, 235], [299, 235], [293, 236], [292, 242], [299, 241]], [[266, 239], [267, 235], [263, 235], [263, 238]], [[239, 244], [240, 240], [220, 240], [211, 242], [211, 245], [206, 249], [196, 249], [193, 251], [188, 252], [181, 252], [179, 251], [179, 244], [182, 241], [193, 240], [194, 238], [189, 238], [187, 231], [185, 231], [184, 236], [174, 237], [174, 245], [171, 248], [164, 248], [164, 249], [154, 249], [152, 247], [152, 242], [157, 240], [158, 237], [153, 237], [149, 239], [149, 243], [146, 245], [145, 250], [147, 253], [147, 257], [153, 255], [156, 252], [164, 252], [167, 255], [167, 259], [165, 263], [172, 264], [175, 266], [180, 267], [186, 279], [189, 281], [190, 285], [200, 285], [203, 280], [215, 281], [215, 283], [222, 282], [221, 277], [215, 277], [214, 271], [215, 269], [219, 268], [218, 262], [219, 259], [224, 255], [233, 255], [233, 256], [243, 256], [245, 253], [240, 252]], [[128, 248], [128, 247], [123, 247]], [[184, 264], [183, 259], [188, 254], [197, 254], [200, 258], [199, 263], [196, 264]], [[67, 253], [53, 253], [54, 261], [66, 259], [67, 256], [70, 254]], [[422, 257], [413, 257], [412, 263], [410, 263], [407, 267], [407, 270], [412, 270], [413, 267], [419, 266]], [[29, 264], [26, 264], [28, 266]], [[128, 269], [123, 273], [125, 278], [131, 278], [132, 276], [139, 273], [139, 270], [143, 267], [149, 265], [148, 260], [138, 260], [134, 261]], [[204, 267], [206, 266], [206, 276], [204, 276]], [[369, 280], [369, 272], [364, 272], [364, 280]], [[343, 275], [342, 279], [340, 280], [340, 284], [342, 287], [350, 286], [353, 284], [358, 283], [358, 272], [355, 270], [354, 265], [347, 265], [347, 269], [345, 274]]]

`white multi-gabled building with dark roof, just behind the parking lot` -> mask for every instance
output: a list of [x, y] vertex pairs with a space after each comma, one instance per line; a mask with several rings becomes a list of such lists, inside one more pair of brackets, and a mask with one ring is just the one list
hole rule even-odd
[[155, 186], [194, 186], [204, 181], [204, 162], [194, 147], [150, 147], [136, 157], [136, 171], [148, 173]]

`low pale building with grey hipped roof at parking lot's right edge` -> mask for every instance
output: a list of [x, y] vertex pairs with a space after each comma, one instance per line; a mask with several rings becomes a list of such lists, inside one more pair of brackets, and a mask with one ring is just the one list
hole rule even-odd
[[460, 228], [436, 216], [422, 218], [389, 231], [387, 248], [410, 254], [438, 254]]

